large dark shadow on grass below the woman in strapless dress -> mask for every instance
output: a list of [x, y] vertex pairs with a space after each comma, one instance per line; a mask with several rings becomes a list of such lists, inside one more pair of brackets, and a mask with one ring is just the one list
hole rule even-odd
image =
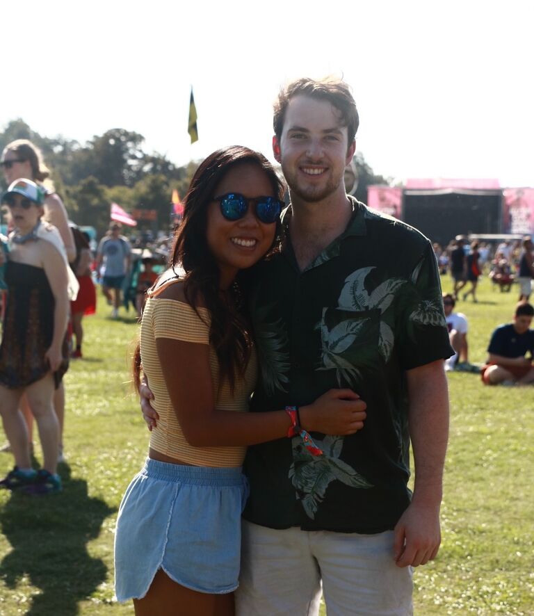
[[63, 492], [14, 492], [0, 511], [1, 530], [13, 546], [0, 563], [0, 576], [10, 588], [27, 576], [40, 590], [27, 604], [30, 616], [78, 614], [78, 602], [90, 597], [108, 574], [102, 560], [89, 556], [87, 544], [114, 510], [88, 496], [85, 480], [71, 480], [67, 464], [60, 467]]

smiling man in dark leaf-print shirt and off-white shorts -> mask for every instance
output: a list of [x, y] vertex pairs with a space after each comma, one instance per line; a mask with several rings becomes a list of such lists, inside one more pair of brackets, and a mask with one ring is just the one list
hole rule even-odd
[[252, 412], [352, 387], [367, 419], [350, 437], [314, 435], [320, 455], [300, 437], [249, 448], [240, 616], [316, 615], [321, 580], [329, 615], [410, 614], [411, 566], [439, 548], [452, 355], [439, 275], [427, 238], [346, 195], [357, 126], [342, 81], [300, 79], [275, 105], [291, 206], [252, 297]]

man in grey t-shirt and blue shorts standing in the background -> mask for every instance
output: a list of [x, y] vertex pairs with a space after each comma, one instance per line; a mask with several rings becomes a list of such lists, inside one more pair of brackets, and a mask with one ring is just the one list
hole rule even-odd
[[120, 235], [120, 229], [120, 222], [112, 222], [108, 234], [102, 238], [97, 250], [97, 271], [102, 274], [102, 293], [108, 304], [113, 305], [113, 318], [117, 318], [119, 313], [120, 290], [131, 260], [130, 243]]

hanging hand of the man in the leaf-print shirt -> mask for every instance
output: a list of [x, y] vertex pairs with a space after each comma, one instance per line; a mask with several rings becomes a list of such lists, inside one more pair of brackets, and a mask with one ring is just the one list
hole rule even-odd
[[394, 529], [397, 567], [419, 567], [434, 560], [442, 542], [439, 506], [412, 501]]

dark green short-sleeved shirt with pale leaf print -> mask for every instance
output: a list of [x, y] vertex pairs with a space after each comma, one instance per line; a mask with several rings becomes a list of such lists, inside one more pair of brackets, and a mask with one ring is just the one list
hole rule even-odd
[[[252, 412], [312, 403], [350, 387], [367, 403], [364, 429], [251, 446], [244, 517], [270, 528], [380, 533], [410, 491], [410, 368], [453, 354], [430, 241], [353, 200], [346, 231], [304, 271], [289, 236], [261, 266], [251, 295], [260, 364]], [[284, 217], [287, 227], [288, 209]]]

